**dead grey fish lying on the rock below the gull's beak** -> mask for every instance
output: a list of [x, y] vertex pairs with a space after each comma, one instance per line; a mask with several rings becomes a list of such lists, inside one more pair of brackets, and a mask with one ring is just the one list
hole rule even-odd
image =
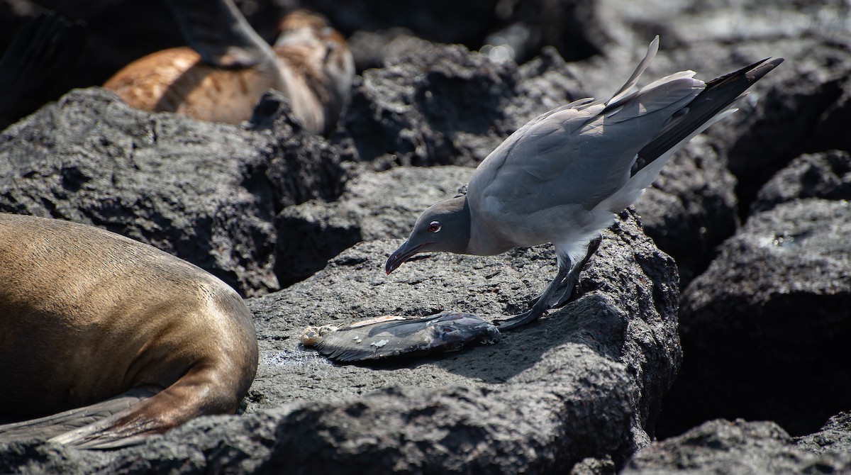
[[500, 338], [500, 330], [482, 318], [470, 313], [443, 312], [423, 318], [387, 315], [342, 328], [307, 327], [301, 344], [315, 347], [333, 361], [351, 363], [456, 352], [470, 342], [491, 345]]

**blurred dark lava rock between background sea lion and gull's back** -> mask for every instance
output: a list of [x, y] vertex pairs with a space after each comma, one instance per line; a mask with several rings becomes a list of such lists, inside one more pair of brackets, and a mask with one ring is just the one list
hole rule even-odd
[[362, 160], [476, 165], [523, 123], [579, 95], [564, 61], [547, 51], [518, 69], [460, 45], [423, 43], [363, 72], [341, 122]]

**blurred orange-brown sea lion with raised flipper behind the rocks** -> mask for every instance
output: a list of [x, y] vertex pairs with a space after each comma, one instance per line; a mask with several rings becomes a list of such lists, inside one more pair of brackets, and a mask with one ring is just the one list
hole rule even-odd
[[231, 0], [169, 0], [190, 48], [165, 49], [125, 66], [104, 87], [130, 106], [201, 120], [248, 120], [269, 89], [289, 99], [312, 134], [328, 134], [349, 100], [354, 60], [339, 32], [306, 10], [280, 23], [274, 48]]

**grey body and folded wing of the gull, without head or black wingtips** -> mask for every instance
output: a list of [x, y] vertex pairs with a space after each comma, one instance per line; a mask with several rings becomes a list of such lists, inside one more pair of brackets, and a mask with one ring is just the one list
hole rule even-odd
[[[633, 76], [637, 74], [638, 69]], [[678, 72], [608, 105], [582, 102], [536, 117], [497, 147], [471, 177], [467, 199], [474, 219], [515, 229], [515, 236], [504, 237], [514, 245], [534, 244], [522, 234], [538, 240], [563, 236], [559, 227], [565, 226], [565, 214], [593, 209], [620, 190], [630, 179], [637, 153], [700, 94], [704, 83], [693, 75]], [[530, 215], [540, 221], [536, 229], [529, 228]]]

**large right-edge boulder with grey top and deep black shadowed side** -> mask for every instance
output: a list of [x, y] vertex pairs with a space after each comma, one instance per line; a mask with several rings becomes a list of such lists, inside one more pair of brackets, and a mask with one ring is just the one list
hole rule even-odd
[[851, 206], [810, 198], [751, 216], [685, 289], [683, 371], [661, 433], [716, 417], [794, 435], [848, 409]]

